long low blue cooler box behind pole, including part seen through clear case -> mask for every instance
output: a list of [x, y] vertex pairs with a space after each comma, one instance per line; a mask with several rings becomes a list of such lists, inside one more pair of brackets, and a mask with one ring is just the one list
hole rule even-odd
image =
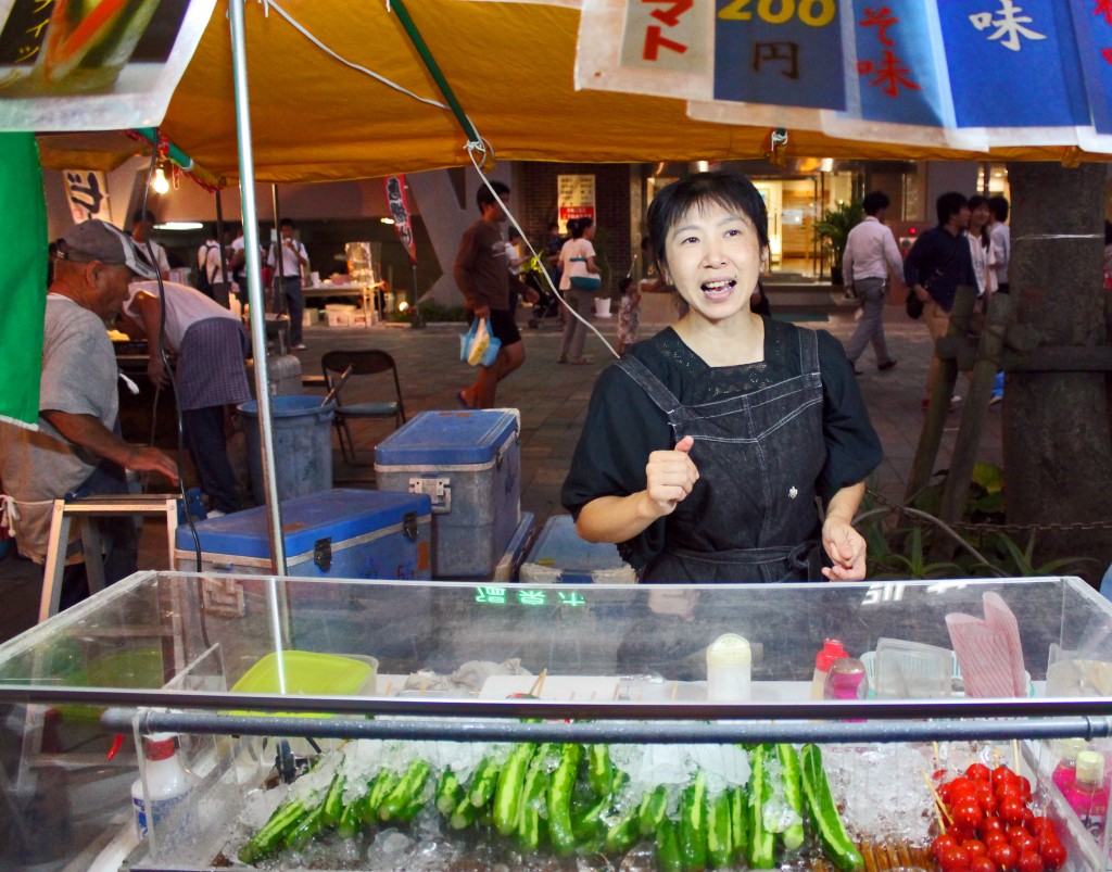
[[[324, 490], [284, 501], [291, 644], [302, 651], [367, 655], [385, 672], [416, 668], [409, 658], [431, 632], [429, 589], [315, 584], [315, 579], [427, 579], [431, 567], [431, 506], [427, 496], [378, 490]], [[266, 506], [196, 525], [201, 546], [205, 613], [238, 620], [267, 607], [270, 538]], [[177, 567], [195, 572], [189, 528], [178, 527]], [[224, 581], [220, 574], [234, 574]], [[245, 577], [247, 576], [247, 577]]]

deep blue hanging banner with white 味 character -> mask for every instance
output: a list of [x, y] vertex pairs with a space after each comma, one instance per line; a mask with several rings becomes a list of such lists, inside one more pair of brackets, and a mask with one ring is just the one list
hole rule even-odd
[[1090, 112], [1063, 0], [937, 2], [957, 127], [1071, 127]]

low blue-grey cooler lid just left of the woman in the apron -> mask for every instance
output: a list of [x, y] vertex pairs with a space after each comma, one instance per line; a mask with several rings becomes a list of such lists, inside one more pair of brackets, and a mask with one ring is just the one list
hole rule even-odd
[[570, 515], [553, 515], [518, 573], [523, 582], [634, 584], [637, 574], [616, 545], [579, 538]]

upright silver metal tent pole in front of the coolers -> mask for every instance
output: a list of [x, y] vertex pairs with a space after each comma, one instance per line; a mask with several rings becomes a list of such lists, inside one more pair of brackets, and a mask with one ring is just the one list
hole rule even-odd
[[247, 257], [247, 298], [250, 303], [251, 348], [255, 359], [255, 396], [259, 403], [259, 443], [262, 485], [267, 503], [267, 532], [275, 575], [286, 575], [286, 545], [281, 537], [281, 505], [275, 469], [275, 444], [267, 373], [267, 329], [264, 319], [262, 265], [259, 259], [259, 220], [255, 204], [255, 156], [251, 153], [251, 112], [247, 95], [247, 57], [242, 0], [229, 0], [231, 60], [236, 86], [236, 139], [239, 148], [239, 192], [244, 202], [244, 254]]

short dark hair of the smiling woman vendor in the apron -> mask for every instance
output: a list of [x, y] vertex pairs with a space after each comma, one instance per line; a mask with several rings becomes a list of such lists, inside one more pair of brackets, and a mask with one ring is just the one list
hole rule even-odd
[[648, 236], [658, 270], [667, 264], [664, 246], [672, 228], [692, 209], [707, 206], [739, 209], [753, 221], [761, 248], [768, 247], [768, 212], [753, 182], [729, 170], [696, 172], [665, 187], [648, 207]]

